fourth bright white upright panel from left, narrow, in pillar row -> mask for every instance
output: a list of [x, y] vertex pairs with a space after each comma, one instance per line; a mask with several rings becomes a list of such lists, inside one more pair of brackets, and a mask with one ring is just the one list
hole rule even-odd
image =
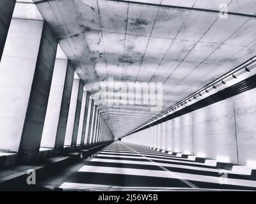
[[[83, 99], [82, 99], [82, 106], [81, 106], [78, 135], [77, 135], [77, 142], [76, 142], [77, 145], [81, 145], [84, 142], [84, 134], [83, 133], [85, 133], [85, 128], [86, 128], [89, 99], [90, 99], [89, 93], [87, 91], [84, 91]], [[82, 138], [83, 138], [83, 141], [82, 141]]]

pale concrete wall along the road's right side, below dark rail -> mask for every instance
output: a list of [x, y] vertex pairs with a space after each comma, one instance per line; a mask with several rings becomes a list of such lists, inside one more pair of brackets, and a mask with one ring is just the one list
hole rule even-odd
[[[256, 167], [256, 89], [145, 129], [123, 141]], [[152, 133], [153, 131], [153, 141]], [[147, 137], [143, 140], [143, 133]], [[154, 135], [157, 134], [157, 135]], [[157, 138], [157, 140], [156, 140]], [[156, 145], [157, 144], [157, 145]]]

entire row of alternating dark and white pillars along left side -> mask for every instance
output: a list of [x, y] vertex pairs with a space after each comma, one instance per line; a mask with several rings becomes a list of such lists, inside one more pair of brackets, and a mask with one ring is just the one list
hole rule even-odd
[[99, 108], [44, 20], [0, 6], [0, 150], [34, 152], [113, 140]]

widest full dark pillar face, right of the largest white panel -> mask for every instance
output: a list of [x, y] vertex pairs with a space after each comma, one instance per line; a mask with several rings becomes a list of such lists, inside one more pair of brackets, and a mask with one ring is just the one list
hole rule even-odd
[[20, 141], [20, 152], [39, 150], [51, 89], [57, 41], [44, 23], [29, 103]]

